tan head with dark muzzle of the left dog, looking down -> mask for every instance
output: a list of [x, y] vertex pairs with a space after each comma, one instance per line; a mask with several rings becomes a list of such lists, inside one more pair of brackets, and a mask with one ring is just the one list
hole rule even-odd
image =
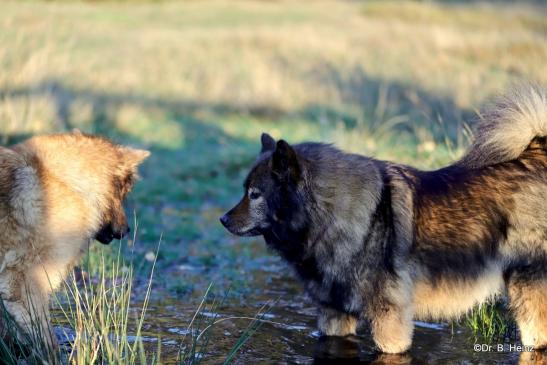
[[51, 226], [103, 244], [129, 232], [123, 203], [150, 152], [78, 130], [34, 137], [25, 148], [43, 156], [46, 178], [62, 182], [59, 193], [50, 194]]

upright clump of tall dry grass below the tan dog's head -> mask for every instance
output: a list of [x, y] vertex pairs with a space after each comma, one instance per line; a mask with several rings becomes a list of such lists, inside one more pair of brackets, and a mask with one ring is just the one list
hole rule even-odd
[[158, 362], [160, 359], [154, 355], [148, 358], [141, 340], [155, 263], [141, 310], [136, 316], [131, 315], [134, 309], [132, 264], [125, 263], [119, 253], [115, 261], [107, 261], [101, 256], [99, 268], [95, 282], [89, 276], [82, 280], [83, 283], [78, 283], [73, 275], [61, 299], [66, 319], [75, 329], [69, 360], [77, 364]]

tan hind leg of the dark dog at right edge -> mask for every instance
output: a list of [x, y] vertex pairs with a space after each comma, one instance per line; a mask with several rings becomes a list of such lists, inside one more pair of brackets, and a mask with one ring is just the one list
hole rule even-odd
[[510, 306], [521, 342], [535, 349], [547, 347], [547, 261], [513, 268], [506, 275]]

